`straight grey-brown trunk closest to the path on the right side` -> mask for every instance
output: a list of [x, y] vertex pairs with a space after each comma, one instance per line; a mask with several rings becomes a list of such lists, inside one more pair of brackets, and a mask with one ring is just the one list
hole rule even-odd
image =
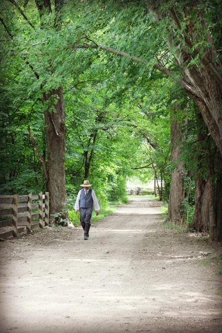
[[[181, 135], [179, 124], [176, 120], [171, 124], [171, 159], [172, 163], [176, 162], [180, 156], [181, 142], [178, 142], [178, 138]], [[167, 221], [171, 221], [173, 224], [183, 226], [184, 225], [184, 213], [181, 211], [181, 202], [185, 198], [184, 194], [184, 165], [181, 162], [176, 164], [176, 168], [172, 171], [170, 196], [168, 205], [168, 217]]]

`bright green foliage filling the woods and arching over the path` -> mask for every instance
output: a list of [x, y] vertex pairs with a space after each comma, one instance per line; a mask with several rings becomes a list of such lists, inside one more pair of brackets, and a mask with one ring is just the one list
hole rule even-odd
[[[93, 183], [103, 209], [108, 209], [109, 202], [127, 202], [126, 181], [133, 176], [146, 182], [156, 174], [160, 199], [169, 199], [171, 172], [178, 162], [171, 162], [174, 118], [183, 124], [180, 160], [185, 174], [192, 174], [190, 179], [184, 177], [189, 197], [183, 202], [187, 222], [192, 221], [194, 180], [201, 176], [215, 181], [221, 170], [212, 163], [215, 144], [197, 108], [183, 88], [173, 83], [175, 76], [182, 75], [175, 58], [188, 55], [180, 70], [201, 68], [212, 46], [212, 41], [204, 38], [208, 29], [221, 58], [221, 3], [200, 2], [196, 11], [188, 6], [188, 0], [158, 2], [159, 15], [164, 15], [155, 24], [151, 3], [64, 2], [56, 28], [54, 6], [51, 13], [41, 12], [40, 20], [36, 2], [23, 6], [19, 1], [25, 19], [13, 2], [2, 1], [0, 193], [45, 191], [42, 164], [27, 127], [47, 165], [44, 112], [55, 112], [52, 105], [57, 97], [43, 102], [42, 96], [62, 86], [66, 187], [73, 223], [77, 221], [72, 207], [85, 178]], [[184, 12], [186, 6], [190, 10]], [[174, 7], [180, 29], [169, 15]], [[193, 22], [193, 45], [189, 47], [185, 32]], [[86, 48], [86, 44], [108, 45], [135, 55], [138, 61]], [[154, 71], [157, 65], [171, 71], [171, 79], [166, 78], [166, 70]], [[63, 224], [63, 212], [53, 219]]]

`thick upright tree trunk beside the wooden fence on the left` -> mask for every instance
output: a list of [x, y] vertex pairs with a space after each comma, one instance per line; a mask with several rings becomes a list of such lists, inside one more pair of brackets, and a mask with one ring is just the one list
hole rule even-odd
[[[46, 102], [49, 99], [56, 101], [54, 105], [45, 110], [50, 214], [61, 213], [63, 210], [63, 218], [69, 221], [65, 178], [66, 126], [63, 88], [59, 87], [47, 94], [44, 93], [44, 101]], [[52, 110], [52, 107], [55, 110]]]

